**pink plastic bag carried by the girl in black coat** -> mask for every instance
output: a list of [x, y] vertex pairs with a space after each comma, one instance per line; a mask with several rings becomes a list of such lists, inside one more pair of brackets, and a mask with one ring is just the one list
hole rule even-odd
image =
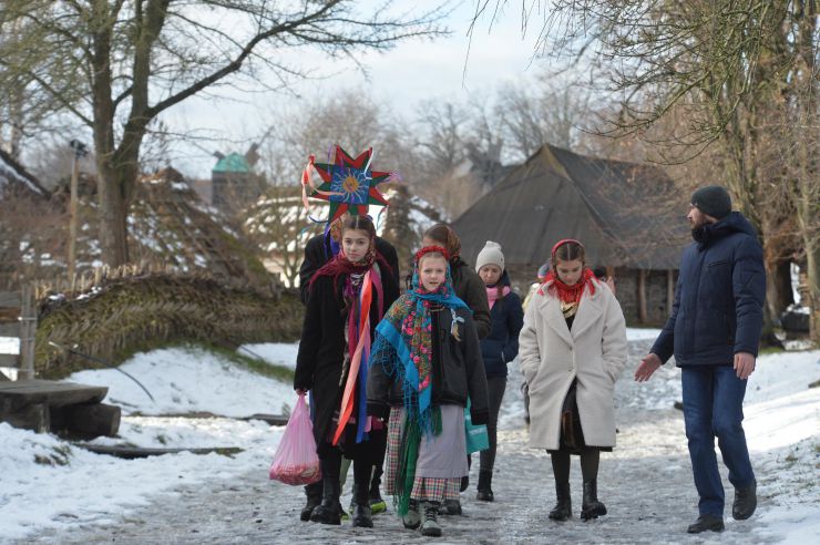
[[321, 479], [314, 424], [310, 422], [304, 393], [296, 400], [296, 408], [290, 413], [270, 464], [269, 475], [275, 481], [293, 485], [310, 484]]

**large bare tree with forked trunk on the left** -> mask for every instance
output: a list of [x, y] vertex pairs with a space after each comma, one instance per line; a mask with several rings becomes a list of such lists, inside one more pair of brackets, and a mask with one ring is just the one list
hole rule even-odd
[[[304, 47], [331, 56], [383, 50], [441, 33], [438, 11], [360, 13], [350, 0], [294, 1], [10, 0], [0, 28], [0, 88], [27, 82], [38, 104], [89, 127], [100, 177], [101, 246], [109, 265], [129, 260], [126, 220], [148, 124], [186, 99], [219, 85], [267, 89], [307, 75], [279, 52]], [[264, 78], [273, 84], [265, 85]]]

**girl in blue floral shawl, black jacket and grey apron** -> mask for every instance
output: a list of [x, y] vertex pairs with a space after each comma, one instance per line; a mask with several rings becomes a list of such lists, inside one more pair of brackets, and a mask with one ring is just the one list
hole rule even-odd
[[473, 423], [488, 418], [479, 338], [470, 310], [453, 294], [444, 248], [419, 250], [412, 289], [377, 330], [368, 410], [390, 413], [385, 490], [397, 498], [406, 527], [421, 525], [423, 535], [439, 536], [439, 506], [452, 491], [458, 497], [468, 472], [468, 397]]

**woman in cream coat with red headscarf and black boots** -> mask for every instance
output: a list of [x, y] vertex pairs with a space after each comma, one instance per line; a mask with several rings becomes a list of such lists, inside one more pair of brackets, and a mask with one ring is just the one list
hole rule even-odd
[[581, 517], [606, 514], [597, 500], [599, 452], [615, 446], [614, 387], [626, 364], [624, 315], [612, 290], [585, 267], [584, 247], [562, 240], [552, 270], [524, 315], [521, 370], [530, 389], [530, 446], [552, 456], [557, 504], [572, 516], [570, 454], [581, 455]]

